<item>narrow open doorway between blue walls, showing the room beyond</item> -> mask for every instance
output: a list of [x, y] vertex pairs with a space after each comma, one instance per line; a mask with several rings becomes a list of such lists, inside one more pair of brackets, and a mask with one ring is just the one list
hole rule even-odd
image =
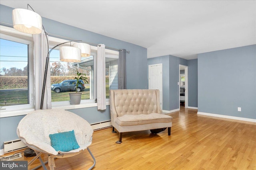
[[188, 108], [188, 66], [179, 65], [179, 103]]

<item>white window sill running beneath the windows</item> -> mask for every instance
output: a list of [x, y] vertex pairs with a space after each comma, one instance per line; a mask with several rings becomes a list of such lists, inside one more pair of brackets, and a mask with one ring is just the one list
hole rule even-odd
[[[106, 105], [110, 105], [109, 99], [106, 99]], [[52, 109], [60, 108], [60, 109], [80, 109], [86, 107], [97, 107], [97, 103], [94, 100], [81, 100], [81, 103], [78, 105], [71, 105], [70, 101], [65, 102], [52, 102]], [[19, 116], [19, 115], [27, 115], [31, 111], [34, 111], [34, 108], [24, 108], [24, 109], [17, 109], [8, 111], [8, 109], [0, 110], [0, 118], [2, 117], [12, 117], [12, 116]]]

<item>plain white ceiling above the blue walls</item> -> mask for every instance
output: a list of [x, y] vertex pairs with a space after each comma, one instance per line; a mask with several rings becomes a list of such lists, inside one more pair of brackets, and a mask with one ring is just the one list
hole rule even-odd
[[[148, 58], [195, 59], [256, 44], [255, 0], [1, 0], [40, 16], [140, 45]], [[129, 49], [127, 49], [129, 50]]]

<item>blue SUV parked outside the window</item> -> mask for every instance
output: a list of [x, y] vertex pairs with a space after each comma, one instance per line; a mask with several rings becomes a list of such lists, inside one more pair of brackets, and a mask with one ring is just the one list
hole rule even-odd
[[[82, 83], [82, 85], [81, 84], [78, 85], [78, 88], [77, 88], [78, 92], [80, 92], [85, 88], [83, 80], [79, 80], [79, 81]], [[59, 84], [52, 84], [51, 90], [56, 93], [60, 93], [64, 91], [76, 91], [76, 80], [64, 80]]]

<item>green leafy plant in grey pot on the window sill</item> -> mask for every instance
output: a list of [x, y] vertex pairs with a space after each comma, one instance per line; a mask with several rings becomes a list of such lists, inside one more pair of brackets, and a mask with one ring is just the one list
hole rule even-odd
[[70, 97], [70, 104], [71, 105], [77, 105], [80, 104], [81, 102], [81, 96], [82, 96], [82, 92], [80, 92], [79, 85], [83, 86], [83, 81], [84, 83], [88, 83], [88, 81], [86, 80], [87, 77], [86, 74], [80, 73], [78, 70], [76, 70], [76, 77], [74, 78], [74, 80], [76, 80], [76, 92], [75, 93], [69, 93], [69, 97]]

